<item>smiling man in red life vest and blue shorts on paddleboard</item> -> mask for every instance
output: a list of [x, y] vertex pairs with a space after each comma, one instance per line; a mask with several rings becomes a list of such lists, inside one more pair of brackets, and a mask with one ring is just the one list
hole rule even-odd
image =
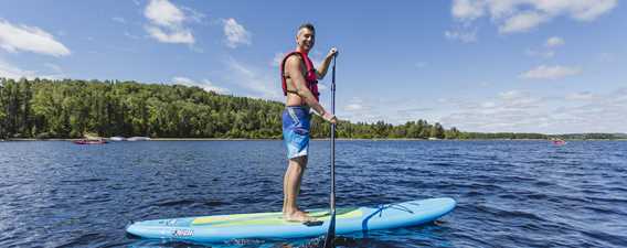
[[318, 79], [322, 79], [327, 74], [338, 50], [331, 48], [320, 68], [316, 69], [308, 57], [316, 43], [316, 29], [312, 24], [306, 23], [298, 28], [296, 43], [296, 51], [287, 54], [280, 64], [283, 90], [287, 97], [283, 112], [283, 137], [289, 160], [283, 183], [283, 215], [288, 222], [310, 222], [315, 218], [299, 209], [297, 204], [300, 182], [307, 168], [310, 109], [331, 123], [338, 121], [336, 116], [318, 103], [320, 94], [317, 86]]

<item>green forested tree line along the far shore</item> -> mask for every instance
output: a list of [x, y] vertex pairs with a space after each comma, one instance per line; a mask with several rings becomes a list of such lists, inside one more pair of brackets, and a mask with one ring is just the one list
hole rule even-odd
[[[280, 139], [278, 101], [205, 91], [182, 85], [119, 80], [0, 78], [0, 139], [145, 136], [151, 138]], [[315, 117], [311, 136], [330, 136]], [[426, 120], [391, 125], [340, 121], [349, 139], [545, 139], [539, 133], [475, 133]]]

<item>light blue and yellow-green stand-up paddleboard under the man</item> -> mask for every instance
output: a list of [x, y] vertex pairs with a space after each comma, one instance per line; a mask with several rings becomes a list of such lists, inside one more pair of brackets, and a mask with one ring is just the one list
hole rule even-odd
[[[429, 198], [378, 207], [337, 208], [336, 234], [416, 226], [438, 219], [451, 212], [455, 205], [453, 198]], [[317, 222], [286, 222], [281, 213], [235, 214], [137, 222], [126, 231], [142, 238], [199, 242], [325, 235], [329, 228], [329, 211], [310, 211], [309, 215]]]

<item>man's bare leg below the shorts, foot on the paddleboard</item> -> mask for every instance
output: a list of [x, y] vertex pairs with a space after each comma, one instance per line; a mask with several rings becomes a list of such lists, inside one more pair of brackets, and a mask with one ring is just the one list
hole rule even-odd
[[289, 164], [284, 177], [284, 218], [293, 222], [316, 220], [305, 212], [298, 209], [298, 193], [302, 174], [307, 168], [307, 157], [298, 157], [289, 160]]

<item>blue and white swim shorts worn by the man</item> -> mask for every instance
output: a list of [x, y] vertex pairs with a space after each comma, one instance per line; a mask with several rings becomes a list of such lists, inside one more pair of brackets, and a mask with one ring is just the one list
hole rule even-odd
[[283, 140], [287, 147], [287, 159], [307, 155], [311, 114], [308, 107], [286, 107], [283, 111]]

